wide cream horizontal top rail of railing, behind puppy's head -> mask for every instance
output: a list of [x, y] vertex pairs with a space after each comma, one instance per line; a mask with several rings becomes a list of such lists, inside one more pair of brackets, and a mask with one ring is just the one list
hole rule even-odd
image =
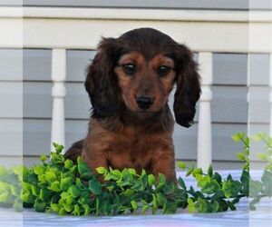
[[[231, 10], [3, 6], [0, 47], [20, 48], [23, 39], [25, 48], [95, 49], [101, 36], [143, 26], [159, 29], [195, 52], [272, 53], [272, 11]], [[13, 42], [22, 35], [21, 42]]]

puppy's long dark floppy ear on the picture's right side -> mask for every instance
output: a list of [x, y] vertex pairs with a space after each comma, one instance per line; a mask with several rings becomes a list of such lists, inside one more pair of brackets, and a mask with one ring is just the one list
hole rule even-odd
[[196, 103], [201, 93], [198, 64], [193, 60], [193, 54], [185, 45], [178, 44], [175, 52], [177, 90], [173, 109], [176, 122], [184, 127], [189, 127], [193, 123]]

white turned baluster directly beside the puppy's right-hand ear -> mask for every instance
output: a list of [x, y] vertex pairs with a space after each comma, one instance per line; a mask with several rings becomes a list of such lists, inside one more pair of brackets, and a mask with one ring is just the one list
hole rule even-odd
[[199, 100], [198, 167], [207, 170], [211, 163], [210, 101], [212, 92], [212, 53], [199, 53], [202, 94]]

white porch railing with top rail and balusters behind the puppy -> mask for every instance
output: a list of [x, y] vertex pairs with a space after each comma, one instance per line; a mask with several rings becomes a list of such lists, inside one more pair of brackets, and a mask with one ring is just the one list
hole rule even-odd
[[[269, 11], [252, 11], [248, 19], [248, 12], [228, 10], [24, 8], [24, 48], [53, 50], [52, 142], [64, 143], [66, 49], [95, 49], [102, 35], [118, 36], [132, 28], [153, 27], [180, 43], [189, 44], [199, 53], [202, 95], [199, 101], [198, 166], [206, 169], [212, 160], [212, 53], [267, 53], [272, 64], [270, 14]], [[15, 27], [19, 26], [19, 17], [17, 8], [0, 7], [0, 31], [5, 34], [0, 37], [1, 47], [18, 48], [12, 37]], [[272, 122], [272, 82], [270, 88]]]

